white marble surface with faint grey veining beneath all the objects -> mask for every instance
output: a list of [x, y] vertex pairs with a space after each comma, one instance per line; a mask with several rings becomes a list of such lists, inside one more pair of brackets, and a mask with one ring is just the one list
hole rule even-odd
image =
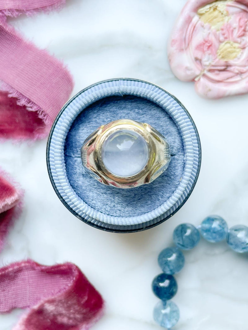
[[[0, 165], [25, 188], [23, 213], [0, 255], [1, 264], [23, 258], [76, 263], [102, 293], [105, 316], [94, 330], [155, 330], [157, 299], [150, 283], [160, 272], [157, 255], [172, 243], [181, 222], [199, 224], [211, 213], [228, 224], [248, 225], [248, 95], [219, 101], [197, 96], [193, 83], [170, 71], [166, 44], [185, 0], [68, 0], [58, 14], [11, 19], [25, 36], [64, 59], [74, 93], [115, 77], [145, 79], [176, 95], [192, 115], [202, 143], [196, 187], [170, 220], [140, 233], [113, 234], [90, 227], [62, 205], [48, 178], [46, 141], [1, 145]], [[247, 329], [248, 258], [223, 244], [201, 241], [186, 253], [174, 298], [181, 311], [176, 330]], [[12, 329], [22, 311], [0, 316]]]

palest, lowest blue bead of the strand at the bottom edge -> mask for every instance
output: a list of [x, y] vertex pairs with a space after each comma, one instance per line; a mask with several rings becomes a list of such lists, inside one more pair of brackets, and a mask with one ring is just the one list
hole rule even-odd
[[153, 310], [154, 321], [161, 327], [170, 329], [179, 320], [179, 309], [173, 301], [159, 301]]

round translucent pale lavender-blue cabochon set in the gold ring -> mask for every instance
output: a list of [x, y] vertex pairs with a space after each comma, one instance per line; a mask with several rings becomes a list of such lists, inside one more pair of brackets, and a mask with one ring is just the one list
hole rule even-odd
[[148, 159], [148, 145], [137, 132], [120, 129], [110, 134], [103, 143], [103, 164], [114, 176], [132, 177], [144, 169]]

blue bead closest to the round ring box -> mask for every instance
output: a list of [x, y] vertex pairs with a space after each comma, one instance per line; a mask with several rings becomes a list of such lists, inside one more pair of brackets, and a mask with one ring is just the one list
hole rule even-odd
[[200, 241], [200, 233], [190, 223], [182, 223], [173, 232], [174, 243], [183, 250], [194, 248]]

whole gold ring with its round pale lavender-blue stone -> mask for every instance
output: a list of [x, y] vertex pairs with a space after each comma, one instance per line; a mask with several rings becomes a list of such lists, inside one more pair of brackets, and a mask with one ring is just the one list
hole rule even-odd
[[100, 126], [81, 148], [83, 165], [99, 182], [118, 188], [150, 183], [169, 166], [165, 137], [146, 123], [120, 119]]

